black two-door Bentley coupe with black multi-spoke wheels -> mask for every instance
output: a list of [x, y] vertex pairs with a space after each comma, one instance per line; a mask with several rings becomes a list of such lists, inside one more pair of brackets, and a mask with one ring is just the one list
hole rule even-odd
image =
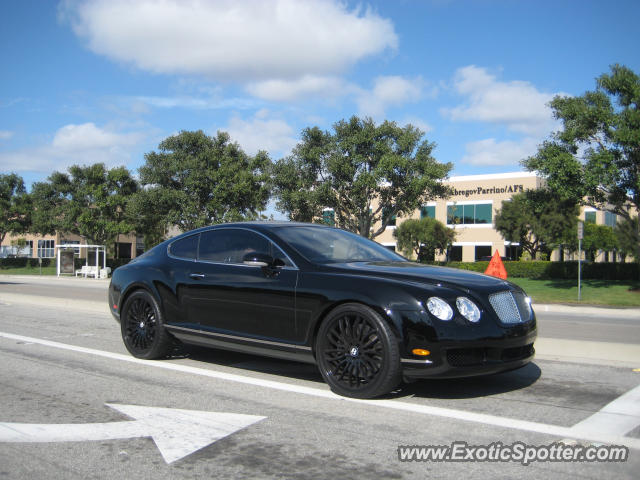
[[410, 262], [337, 228], [236, 223], [187, 232], [114, 271], [109, 307], [129, 352], [177, 340], [312, 362], [332, 390], [522, 367], [536, 320], [516, 285]]

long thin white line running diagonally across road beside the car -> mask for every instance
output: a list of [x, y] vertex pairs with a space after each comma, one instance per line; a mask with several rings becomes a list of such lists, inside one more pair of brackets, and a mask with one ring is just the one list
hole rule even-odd
[[314, 397], [327, 398], [331, 400], [340, 400], [343, 402], [353, 402], [378, 408], [388, 408], [392, 410], [400, 410], [410, 413], [418, 413], [422, 415], [432, 415], [443, 418], [453, 418], [467, 422], [481, 423], [484, 425], [492, 425], [495, 427], [509, 428], [515, 430], [523, 430], [527, 432], [541, 433], [545, 435], [553, 435], [560, 438], [575, 438], [587, 440], [590, 442], [610, 443], [616, 445], [626, 445], [629, 448], [640, 450], [640, 439], [623, 437], [619, 435], [611, 435], [599, 432], [577, 431], [569, 427], [561, 427], [558, 425], [549, 425], [545, 423], [529, 422], [526, 420], [518, 420], [515, 418], [497, 417], [484, 413], [467, 412], [464, 410], [454, 410], [451, 408], [433, 407], [429, 405], [417, 405], [413, 403], [400, 402], [398, 400], [359, 400], [355, 398], [342, 397], [336, 395], [329, 390], [321, 390], [319, 388], [305, 387], [301, 385], [291, 385], [288, 383], [274, 382], [272, 380], [264, 380], [260, 378], [245, 377], [232, 373], [217, 372], [215, 370], [206, 370], [203, 368], [191, 367], [187, 365], [178, 365], [168, 361], [152, 361], [140, 360], [129, 355], [119, 353], [105, 352], [103, 350], [94, 350], [92, 348], [77, 347], [64, 343], [52, 342], [50, 340], [42, 340], [39, 338], [25, 337], [22, 335], [14, 335], [12, 333], [0, 332], [0, 337], [16, 340], [19, 342], [33, 343], [44, 345], [47, 347], [69, 350], [72, 352], [94, 355], [97, 357], [109, 358], [111, 360], [119, 360], [123, 362], [145, 365], [153, 368], [171, 370], [175, 372], [189, 373], [192, 375], [200, 375], [203, 377], [215, 378], [218, 380], [226, 380], [230, 382], [243, 383], [257, 387], [270, 388], [285, 392], [301, 393], [303, 395], [311, 395]]

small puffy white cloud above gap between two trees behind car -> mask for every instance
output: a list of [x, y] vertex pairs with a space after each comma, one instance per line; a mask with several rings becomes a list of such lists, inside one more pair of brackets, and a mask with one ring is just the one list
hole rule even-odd
[[228, 132], [231, 140], [238, 142], [249, 155], [266, 150], [272, 158], [279, 158], [288, 155], [297, 143], [291, 126], [283, 120], [269, 118], [267, 110], [258, 111], [249, 120], [232, 117], [222, 130]]

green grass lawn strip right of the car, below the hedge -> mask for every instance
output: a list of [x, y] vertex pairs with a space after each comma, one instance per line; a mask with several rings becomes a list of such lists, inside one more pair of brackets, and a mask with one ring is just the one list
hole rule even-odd
[[[578, 280], [531, 280], [509, 278], [520, 285], [534, 303], [572, 303], [580, 305], [640, 306], [640, 283], [613, 280], [583, 280], [582, 300], [578, 302]], [[630, 288], [635, 288], [631, 291]]]

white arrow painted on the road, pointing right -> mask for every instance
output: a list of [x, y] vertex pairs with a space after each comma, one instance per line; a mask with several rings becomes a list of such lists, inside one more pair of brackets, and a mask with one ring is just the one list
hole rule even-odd
[[48, 425], [0, 423], [0, 442], [86, 442], [151, 437], [165, 462], [172, 463], [267, 418], [237, 413], [106, 405], [135, 420]]

